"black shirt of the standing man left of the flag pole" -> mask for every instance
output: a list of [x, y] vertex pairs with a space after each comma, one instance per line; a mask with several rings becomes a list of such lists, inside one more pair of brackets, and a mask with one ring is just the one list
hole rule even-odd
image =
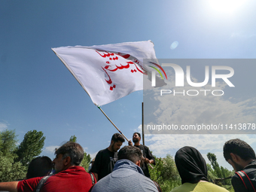
[[98, 174], [98, 181], [111, 173], [114, 169], [114, 163], [117, 162], [117, 152], [111, 152], [105, 148], [98, 152], [91, 172]]

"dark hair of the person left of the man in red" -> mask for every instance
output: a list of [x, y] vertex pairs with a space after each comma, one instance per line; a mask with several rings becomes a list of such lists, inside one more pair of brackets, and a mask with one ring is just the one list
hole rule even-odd
[[30, 163], [26, 178], [43, 177], [51, 172], [53, 168], [52, 161], [47, 156], [35, 157]]

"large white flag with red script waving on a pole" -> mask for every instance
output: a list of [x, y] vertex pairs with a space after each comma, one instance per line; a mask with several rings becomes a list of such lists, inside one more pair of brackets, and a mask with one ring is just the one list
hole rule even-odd
[[95, 105], [143, 90], [143, 59], [157, 59], [151, 41], [52, 48]]

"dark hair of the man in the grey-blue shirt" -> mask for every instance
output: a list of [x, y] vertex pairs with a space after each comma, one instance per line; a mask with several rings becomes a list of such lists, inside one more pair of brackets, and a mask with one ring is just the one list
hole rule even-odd
[[136, 163], [138, 160], [142, 160], [142, 151], [140, 151], [139, 148], [128, 145], [121, 148], [117, 156], [118, 160], [125, 159]]

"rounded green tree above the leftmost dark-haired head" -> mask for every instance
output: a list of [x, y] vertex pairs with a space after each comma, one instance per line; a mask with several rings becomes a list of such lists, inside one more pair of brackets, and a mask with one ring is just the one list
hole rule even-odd
[[16, 162], [20, 162], [23, 166], [28, 166], [33, 158], [41, 154], [44, 148], [44, 133], [32, 130], [25, 134], [23, 142], [17, 148]]

